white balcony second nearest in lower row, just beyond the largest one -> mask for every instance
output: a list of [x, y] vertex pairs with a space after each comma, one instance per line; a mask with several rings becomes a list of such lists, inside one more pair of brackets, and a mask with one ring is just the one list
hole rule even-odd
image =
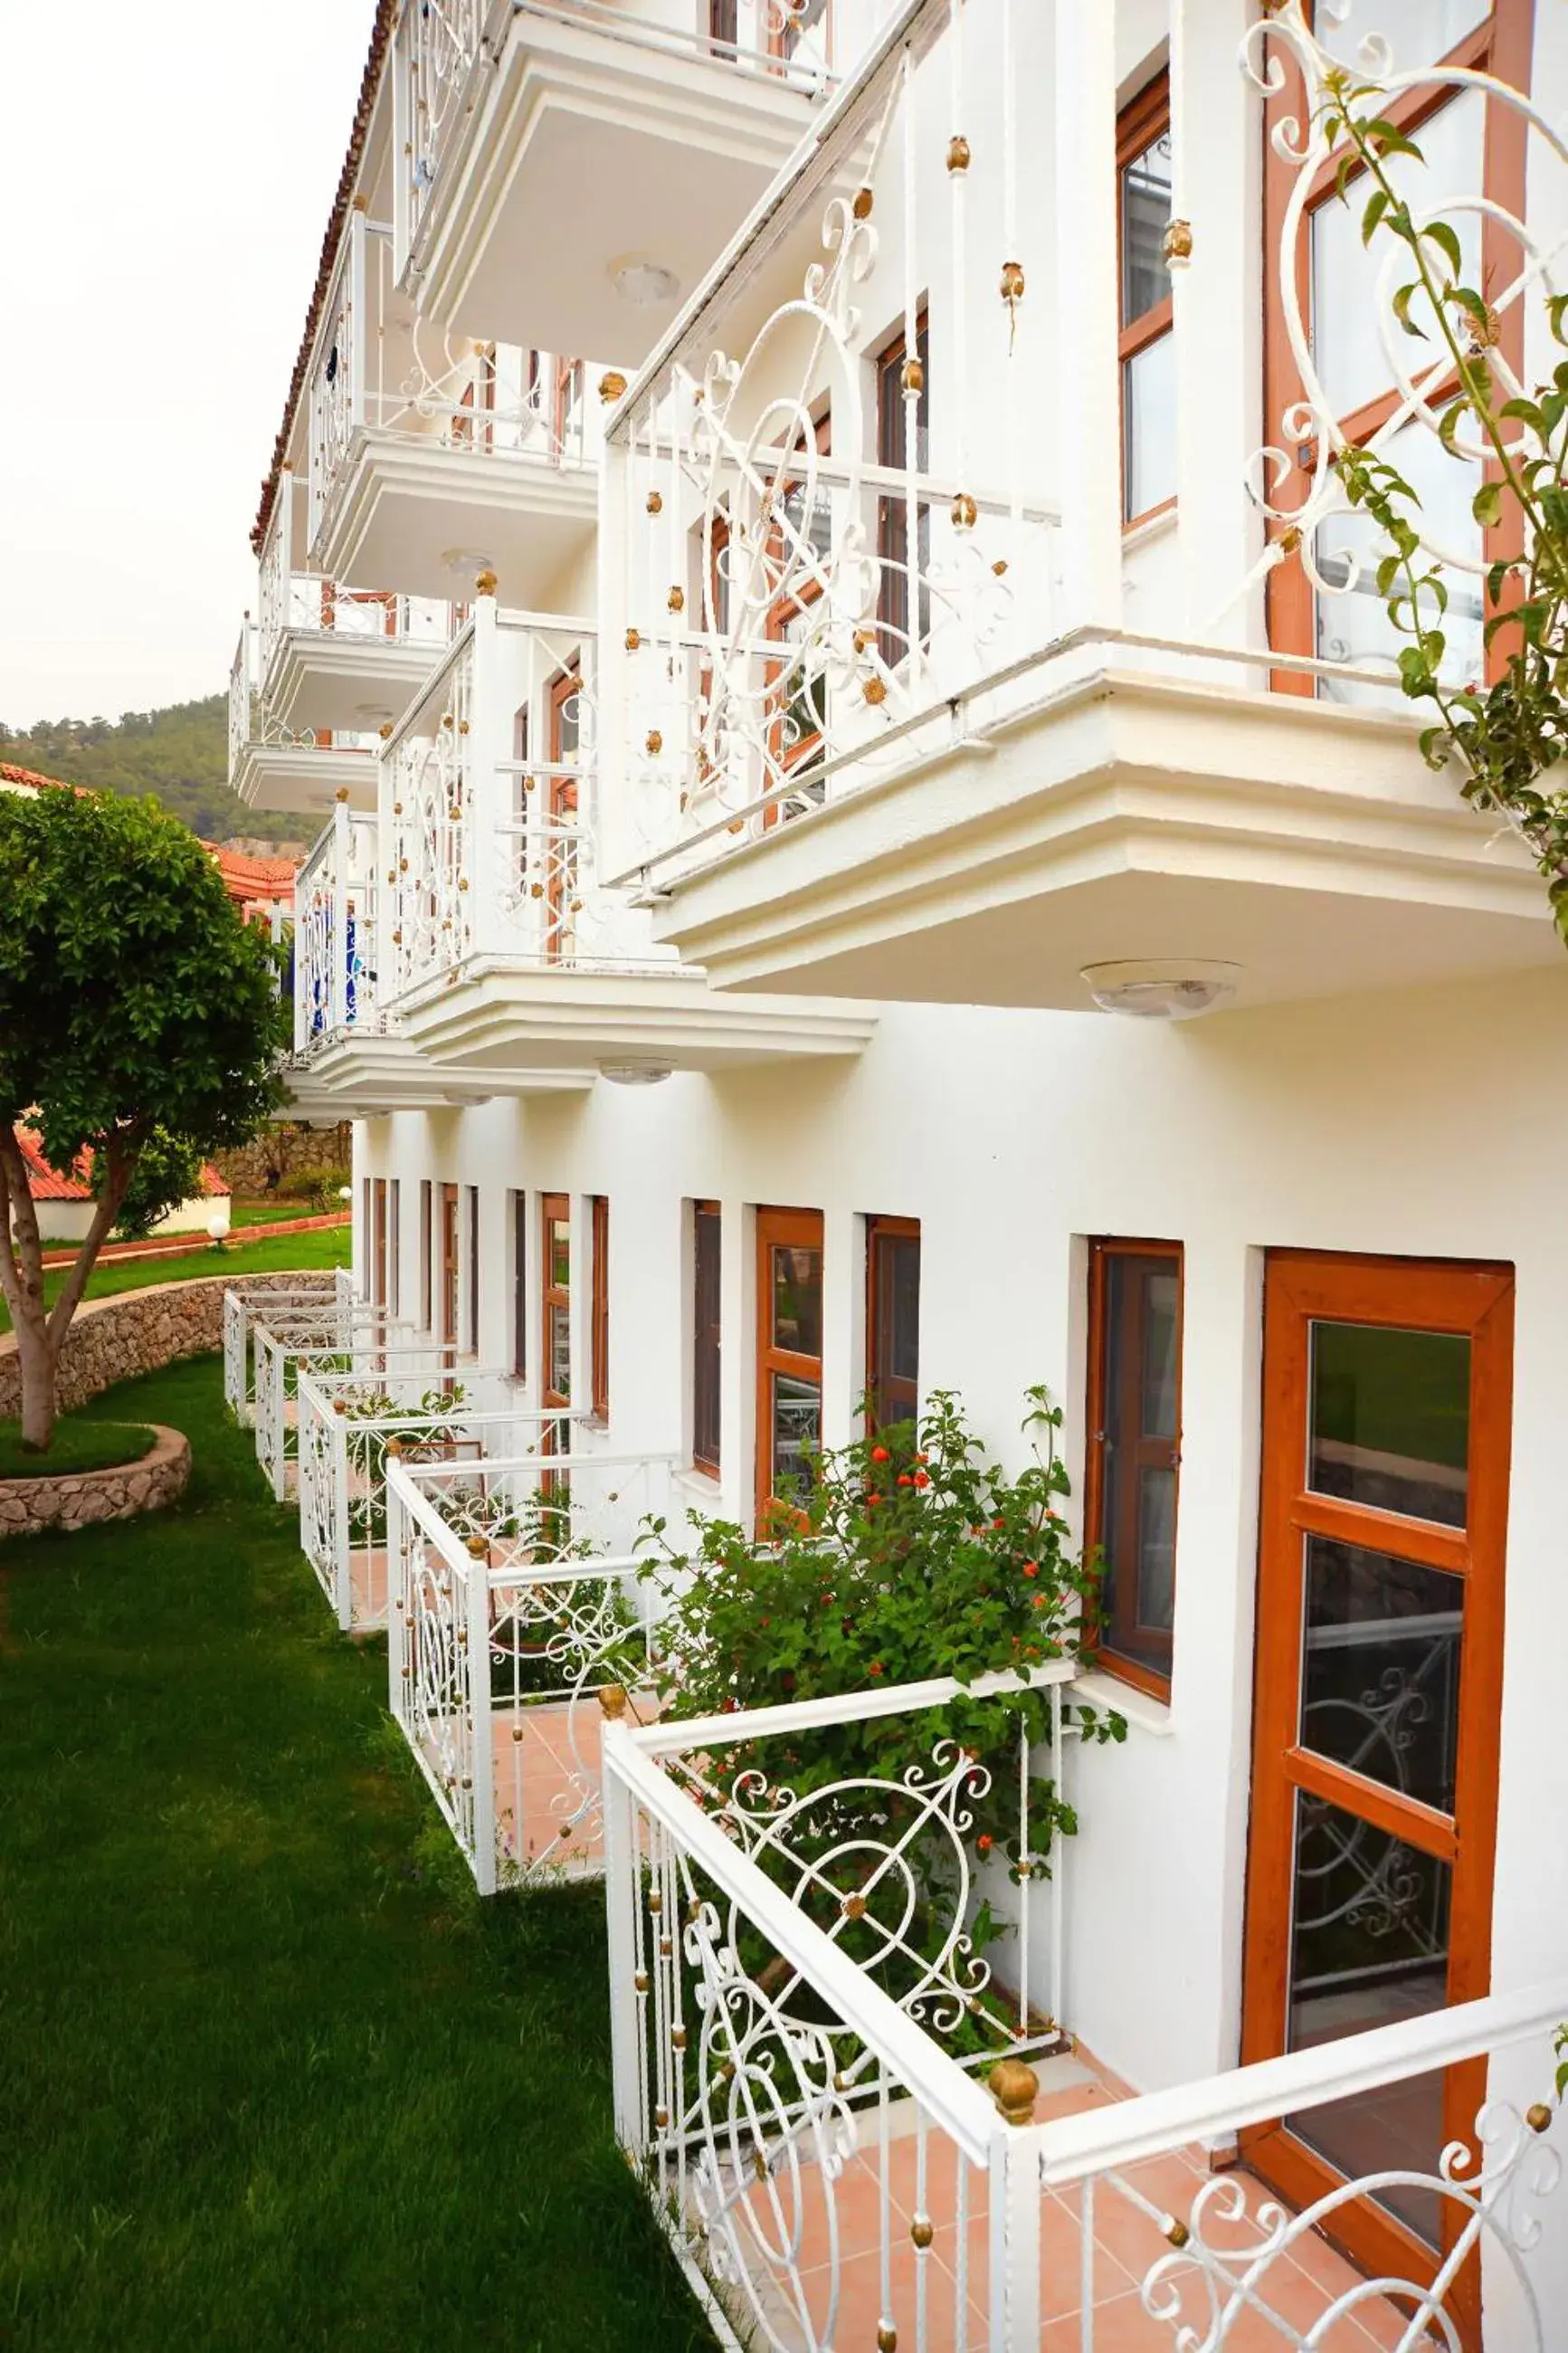
[[381, 991], [402, 1035], [496, 1092], [858, 1054], [865, 1014], [722, 998], [604, 887], [604, 842], [635, 833], [639, 802], [609, 791], [602, 718], [590, 621], [475, 602], [381, 760]]

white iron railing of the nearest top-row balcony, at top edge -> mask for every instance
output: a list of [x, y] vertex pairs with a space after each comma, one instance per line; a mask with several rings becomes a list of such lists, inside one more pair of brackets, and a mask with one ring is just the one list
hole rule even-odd
[[889, 14], [889, 0], [712, 0], [623, 7], [618, 0], [515, 0], [498, 16], [491, 0], [425, 0], [397, 21], [395, 73], [395, 264], [402, 280], [418, 256], [437, 181], [463, 125], [482, 113], [487, 80], [501, 59], [508, 28], [529, 40], [534, 28], [604, 31], [628, 45], [679, 59], [715, 59], [736, 73], [766, 75], [818, 96], [832, 89], [835, 68]]

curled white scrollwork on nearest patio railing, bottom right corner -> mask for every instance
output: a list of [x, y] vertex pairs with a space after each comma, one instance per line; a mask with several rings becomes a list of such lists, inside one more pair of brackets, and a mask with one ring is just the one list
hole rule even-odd
[[[1262, 2329], [1272, 2329], [1284, 2346], [1338, 2344], [1338, 2322], [1356, 2313], [1380, 2325], [1396, 2313], [1401, 2344], [1460, 2353], [1467, 2339], [1460, 2334], [1453, 2287], [1481, 2242], [1488, 2266], [1509, 2273], [1516, 2292], [1514, 2325], [1528, 2332], [1509, 2337], [1509, 2344], [1519, 2346], [1519, 2353], [1528, 2348], [1547, 2353], [1540, 2304], [1523, 2257], [1540, 2238], [1535, 2207], [1561, 2179], [1561, 2160], [1542, 2141], [1552, 2115], [1547, 2106], [1519, 2115], [1502, 2101], [1488, 2104], [1476, 2118], [1476, 2148], [1453, 2141], [1443, 2148], [1436, 2172], [1363, 2174], [1328, 2191], [1300, 2214], [1291, 2214], [1267, 2195], [1258, 2198], [1253, 2184], [1232, 2174], [1204, 2181], [1187, 2217], [1157, 2214], [1114, 2174], [1098, 2184], [1098, 2195], [1126, 2198], [1173, 2242], [1175, 2252], [1161, 2254], [1145, 2271], [1140, 2287], [1145, 2313], [1171, 2329], [1173, 2353], [1220, 2353], [1222, 2346], [1239, 2341], [1241, 2329], [1251, 2332], [1248, 2344]], [[1269, 2278], [1274, 2266], [1316, 2231], [1326, 2231], [1328, 2238], [1340, 2235], [1345, 2221], [1335, 2226], [1335, 2219], [1347, 2207], [1387, 2202], [1389, 2193], [1410, 2191], [1427, 2193], [1448, 2214], [1436, 2275], [1415, 2280], [1385, 2273], [1356, 2280], [1338, 2297], [1324, 2292], [1324, 2308], [1312, 2315], [1309, 2327], [1295, 2304], [1286, 2315], [1274, 2301], [1279, 2294]], [[1281, 2285], [1284, 2278], [1281, 2273]], [[1495, 2285], [1490, 2294], [1497, 2294]]]

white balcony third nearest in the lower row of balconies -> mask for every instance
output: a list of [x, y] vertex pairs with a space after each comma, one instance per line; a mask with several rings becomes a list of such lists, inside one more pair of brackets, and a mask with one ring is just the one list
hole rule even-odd
[[[339, 802], [294, 882], [292, 1101], [315, 1118], [482, 1104], [491, 1080], [444, 1068], [390, 1012], [383, 972], [381, 831]], [[585, 1071], [508, 1073], [508, 1092], [576, 1092]]]

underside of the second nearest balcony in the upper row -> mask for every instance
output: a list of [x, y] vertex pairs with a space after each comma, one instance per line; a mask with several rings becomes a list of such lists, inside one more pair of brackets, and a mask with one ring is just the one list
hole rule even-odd
[[597, 520], [595, 466], [360, 431], [313, 560], [334, 579], [395, 581], [430, 598], [470, 595], [489, 565], [508, 605], [543, 605]]

